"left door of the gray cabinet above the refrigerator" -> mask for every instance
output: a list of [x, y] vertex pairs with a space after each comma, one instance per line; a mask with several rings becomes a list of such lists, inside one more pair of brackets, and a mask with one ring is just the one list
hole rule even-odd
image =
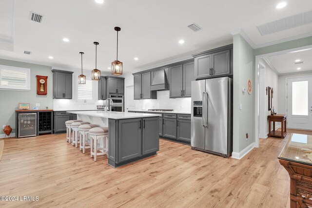
[[196, 78], [211, 76], [211, 54], [202, 57], [196, 57], [194, 60]]

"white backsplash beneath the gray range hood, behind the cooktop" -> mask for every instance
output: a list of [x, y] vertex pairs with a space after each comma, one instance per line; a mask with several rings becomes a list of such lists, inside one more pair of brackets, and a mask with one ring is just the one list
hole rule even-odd
[[157, 99], [135, 100], [136, 110], [172, 109], [191, 112], [191, 97], [169, 98], [169, 91], [158, 91]]

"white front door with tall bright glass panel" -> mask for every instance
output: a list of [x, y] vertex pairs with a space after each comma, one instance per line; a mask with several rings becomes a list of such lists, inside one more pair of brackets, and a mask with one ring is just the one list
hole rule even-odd
[[312, 76], [287, 79], [287, 125], [312, 130]]

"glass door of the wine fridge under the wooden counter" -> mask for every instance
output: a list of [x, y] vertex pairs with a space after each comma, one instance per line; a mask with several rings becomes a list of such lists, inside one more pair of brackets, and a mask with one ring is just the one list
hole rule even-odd
[[37, 136], [37, 113], [19, 113], [19, 137]]

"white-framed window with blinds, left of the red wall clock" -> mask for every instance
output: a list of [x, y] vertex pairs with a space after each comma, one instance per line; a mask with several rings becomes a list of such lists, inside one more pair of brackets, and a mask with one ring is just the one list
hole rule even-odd
[[30, 91], [30, 69], [0, 65], [0, 89]]

